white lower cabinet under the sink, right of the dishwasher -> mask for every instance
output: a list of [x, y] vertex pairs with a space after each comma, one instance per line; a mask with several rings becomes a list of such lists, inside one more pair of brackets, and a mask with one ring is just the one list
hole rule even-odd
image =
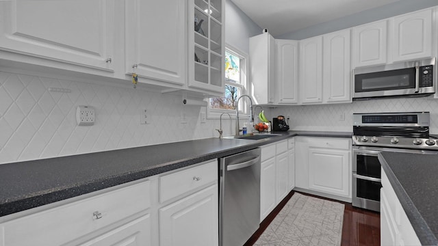
[[261, 146], [260, 222], [289, 193], [287, 141]]

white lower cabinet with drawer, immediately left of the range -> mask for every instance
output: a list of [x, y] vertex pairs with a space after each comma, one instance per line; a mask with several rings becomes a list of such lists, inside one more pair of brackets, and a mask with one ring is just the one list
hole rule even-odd
[[296, 187], [351, 202], [350, 139], [297, 137]]

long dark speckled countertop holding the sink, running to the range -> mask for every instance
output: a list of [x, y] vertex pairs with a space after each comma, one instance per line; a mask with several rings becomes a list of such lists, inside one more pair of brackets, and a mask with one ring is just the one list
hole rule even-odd
[[276, 132], [261, 140], [199, 139], [0, 165], [0, 217], [114, 187], [294, 136], [352, 133]]

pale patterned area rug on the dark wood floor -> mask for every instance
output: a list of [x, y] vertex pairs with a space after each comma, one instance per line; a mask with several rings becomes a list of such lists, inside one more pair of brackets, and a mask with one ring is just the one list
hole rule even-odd
[[341, 245], [344, 204], [294, 193], [254, 245]]

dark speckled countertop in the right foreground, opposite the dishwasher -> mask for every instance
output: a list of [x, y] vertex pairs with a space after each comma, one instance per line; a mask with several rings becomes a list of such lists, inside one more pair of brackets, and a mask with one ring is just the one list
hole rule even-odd
[[437, 154], [378, 154], [378, 160], [422, 245], [438, 245]]

